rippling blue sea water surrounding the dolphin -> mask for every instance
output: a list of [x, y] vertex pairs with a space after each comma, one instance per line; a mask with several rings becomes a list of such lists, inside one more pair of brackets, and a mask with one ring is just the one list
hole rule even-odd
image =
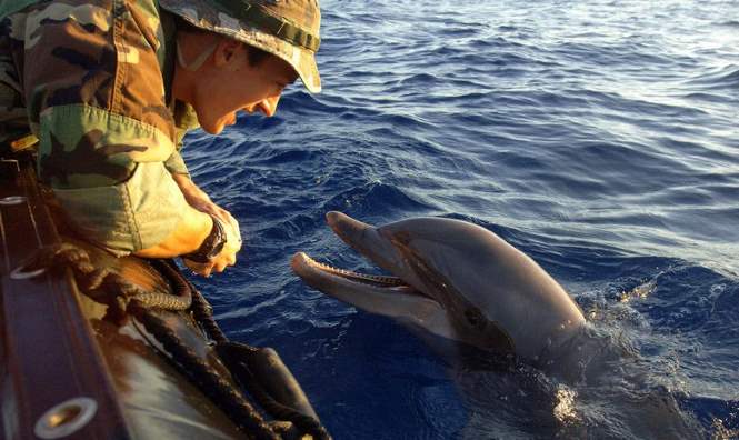
[[[739, 1], [322, 10], [323, 93], [293, 87], [278, 116], [186, 148], [246, 238], [237, 267], [198, 282], [228, 334], [274, 347], [337, 439], [666, 438], [655, 402], [739, 438]], [[377, 271], [330, 210], [495, 231], [628, 348], [639, 381], [451, 367], [307, 288], [299, 250]]]

